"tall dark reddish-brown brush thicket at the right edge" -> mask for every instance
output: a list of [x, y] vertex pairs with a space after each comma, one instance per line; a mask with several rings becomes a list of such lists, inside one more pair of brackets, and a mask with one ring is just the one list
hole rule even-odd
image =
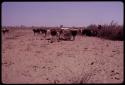
[[102, 28], [98, 29], [96, 25], [89, 25], [86, 28], [97, 32], [97, 37], [110, 39], [110, 40], [123, 40], [123, 26], [114, 23], [113, 21], [107, 25], [101, 25]]

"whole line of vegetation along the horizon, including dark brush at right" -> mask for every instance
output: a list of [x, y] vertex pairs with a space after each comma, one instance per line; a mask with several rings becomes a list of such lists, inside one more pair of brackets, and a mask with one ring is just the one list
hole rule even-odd
[[[56, 28], [58, 29], [59, 27], [36, 27], [36, 26], [31, 26], [31, 27], [26, 27], [26, 26], [3, 26], [3, 29], [9, 29], [9, 28], [15, 28], [15, 29], [34, 29], [34, 28], [46, 28], [46, 29], [53, 29]], [[92, 33], [91, 36], [99, 37], [99, 38], [104, 38], [104, 39], [109, 39], [109, 40], [120, 40], [123, 41], [123, 26], [118, 25], [117, 23], [114, 23], [112, 21], [110, 24], [104, 24], [101, 25], [101, 29], [98, 28], [98, 25], [91, 24], [87, 27], [71, 27], [79, 30], [84, 30], [84, 29], [89, 29]], [[81, 35], [80, 32], [78, 32], [79, 35]]]

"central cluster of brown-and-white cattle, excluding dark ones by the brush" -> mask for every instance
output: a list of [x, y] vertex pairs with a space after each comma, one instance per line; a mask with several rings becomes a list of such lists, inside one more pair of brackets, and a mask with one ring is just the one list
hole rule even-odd
[[[54, 37], [57, 37], [57, 40], [71, 40], [71, 37], [73, 40], [75, 40], [75, 36], [77, 35], [78, 30], [76, 29], [33, 29], [34, 35], [35, 34], [44, 34], [45, 38], [46, 35], [49, 33], [52, 36], [52, 39]], [[60, 36], [63, 35], [65, 38], [61, 38]]]

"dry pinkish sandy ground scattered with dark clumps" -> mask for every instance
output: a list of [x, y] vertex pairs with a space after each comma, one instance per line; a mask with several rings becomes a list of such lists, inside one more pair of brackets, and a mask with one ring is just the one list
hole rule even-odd
[[122, 83], [123, 74], [123, 41], [50, 43], [31, 29], [2, 34], [2, 83]]

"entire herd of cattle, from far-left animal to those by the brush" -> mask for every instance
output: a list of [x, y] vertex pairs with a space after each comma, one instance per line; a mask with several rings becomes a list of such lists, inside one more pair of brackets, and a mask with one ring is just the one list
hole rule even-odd
[[[98, 26], [98, 29], [101, 29], [101, 25]], [[52, 28], [52, 29], [46, 29], [46, 28], [34, 28], [32, 29], [34, 36], [36, 34], [44, 34], [44, 37], [46, 38], [47, 34], [51, 35], [51, 42], [53, 42], [53, 39], [56, 37], [58, 41], [60, 40], [75, 40], [76, 35], [86, 35], [86, 36], [97, 36], [97, 31], [93, 31], [91, 29], [76, 29], [76, 28]], [[8, 29], [2, 30], [3, 34], [8, 33]], [[63, 35], [63, 38], [61, 37]]]

